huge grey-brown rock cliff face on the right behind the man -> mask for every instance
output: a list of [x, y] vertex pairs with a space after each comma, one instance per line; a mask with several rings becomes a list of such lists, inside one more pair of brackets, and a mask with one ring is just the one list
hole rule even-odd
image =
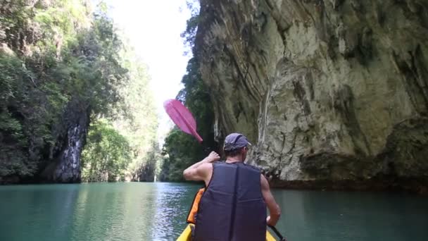
[[428, 1], [202, 0], [196, 54], [272, 183], [427, 191]]

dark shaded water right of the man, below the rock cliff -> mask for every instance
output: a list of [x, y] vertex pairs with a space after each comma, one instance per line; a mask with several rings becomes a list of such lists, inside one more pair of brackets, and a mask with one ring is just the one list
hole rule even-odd
[[289, 240], [428, 240], [428, 197], [275, 190]]

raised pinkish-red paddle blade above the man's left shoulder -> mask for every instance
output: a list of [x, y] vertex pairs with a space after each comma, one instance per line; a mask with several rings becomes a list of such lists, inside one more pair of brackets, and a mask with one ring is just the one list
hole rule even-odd
[[196, 137], [198, 142], [202, 142], [202, 138], [196, 132], [196, 121], [190, 111], [177, 99], [168, 99], [163, 102], [163, 107], [171, 120], [177, 125], [180, 130], [187, 134]]

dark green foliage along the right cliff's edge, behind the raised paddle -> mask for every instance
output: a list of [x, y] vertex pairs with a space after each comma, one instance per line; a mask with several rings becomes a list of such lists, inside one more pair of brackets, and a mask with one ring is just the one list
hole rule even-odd
[[196, 2], [189, 4], [192, 11], [187, 21], [187, 29], [183, 32], [184, 41], [191, 47], [194, 57], [187, 63], [187, 74], [183, 76], [184, 88], [177, 95], [177, 99], [193, 113], [196, 119], [199, 135], [203, 144], [199, 144], [194, 137], [174, 128], [165, 138], [163, 145], [163, 164], [161, 166], [160, 180], [183, 180], [182, 172], [185, 168], [197, 161], [201, 161], [210, 150], [215, 150], [217, 144], [214, 140], [213, 106], [199, 71], [199, 60], [194, 53], [194, 38], [196, 35], [199, 8]]

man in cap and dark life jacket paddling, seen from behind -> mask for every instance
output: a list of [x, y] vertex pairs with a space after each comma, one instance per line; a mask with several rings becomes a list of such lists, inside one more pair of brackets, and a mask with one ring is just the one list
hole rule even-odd
[[225, 138], [225, 162], [218, 162], [220, 156], [211, 152], [184, 170], [186, 180], [203, 180], [206, 185], [194, 240], [262, 241], [266, 225], [277, 223], [281, 211], [269, 183], [260, 170], [244, 163], [249, 145], [244, 135], [232, 133]]

